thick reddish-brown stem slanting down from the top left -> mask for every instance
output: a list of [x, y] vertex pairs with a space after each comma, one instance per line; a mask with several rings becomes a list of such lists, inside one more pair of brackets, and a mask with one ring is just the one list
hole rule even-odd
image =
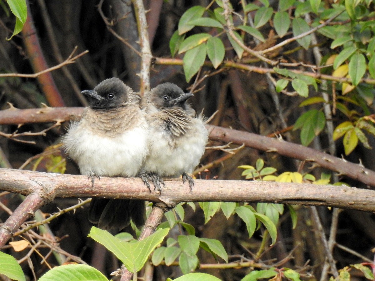
[[[27, 19], [21, 31], [26, 52], [34, 72], [42, 72], [48, 69], [48, 64], [44, 58], [42, 48], [39, 44], [33, 18], [31, 16], [30, 5], [27, 4]], [[42, 91], [51, 106], [64, 106], [64, 101], [55, 85], [51, 73], [45, 72], [37, 76]]]

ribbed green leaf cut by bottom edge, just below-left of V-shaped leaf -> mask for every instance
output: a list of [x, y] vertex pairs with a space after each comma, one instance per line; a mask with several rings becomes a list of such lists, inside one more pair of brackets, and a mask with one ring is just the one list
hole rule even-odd
[[98, 269], [89, 265], [62, 265], [47, 271], [40, 281], [108, 281]]

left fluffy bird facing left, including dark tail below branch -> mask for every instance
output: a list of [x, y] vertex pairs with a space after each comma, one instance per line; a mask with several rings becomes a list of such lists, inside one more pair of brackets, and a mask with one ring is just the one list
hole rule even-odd
[[[92, 187], [96, 177], [138, 175], [148, 155], [148, 123], [140, 97], [118, 78], [100, 82], [82, 93], [89, 100], [82, 119], [72, 122], [63, 136], [63, 147], [88, 175]], [[145, 202], [141, 200], [93, 198], [89, 221], [98, 227], [120, 231], [130, 219], [141, 228]]]

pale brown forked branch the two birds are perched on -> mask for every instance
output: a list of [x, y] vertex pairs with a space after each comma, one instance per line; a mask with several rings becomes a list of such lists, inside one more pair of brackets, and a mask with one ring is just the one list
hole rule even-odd
[[165, 187], [159, 195], [159, 192], [150, 192], [139, 178], [101, 177], [92, 188], [85, 175], [0, 168], [1, 189], [28, 196], [0, 227], [0, 247], [29, 216], [55, 197], [132, 198], [164, 204], [168, 208], [180, 202], [224, 201], [333, 206], [375, 212], [374, 190], [344, 185], [196, 179], [190, 192], [181, 179], [164, 181]]

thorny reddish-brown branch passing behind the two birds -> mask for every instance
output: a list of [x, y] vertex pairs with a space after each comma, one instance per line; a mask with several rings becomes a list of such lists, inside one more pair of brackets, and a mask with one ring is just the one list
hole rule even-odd
[[[82, 111], [83, 108], [6, 109], [0, 111], [0, 124], [40, 123], [56, 120], [68, 121], [69, 118], [80, 118]], [[30, 121], [27, 120], [27, 115], [30, 116]], [[276, 152], [294, 159], [314, 162], [318, 166], [338, 172], [339, 175], [345, 175], [375, 187], [375, 172], [359, 164], [348, 162], [303, 145], [268, 138], [254, 133], [210, 125], [207, 125], [207, 129], [210, 132], [210, 139], [213, 141], [233, 142], [239, 145], [245, 144], [245, 146], [250, 148]]]

